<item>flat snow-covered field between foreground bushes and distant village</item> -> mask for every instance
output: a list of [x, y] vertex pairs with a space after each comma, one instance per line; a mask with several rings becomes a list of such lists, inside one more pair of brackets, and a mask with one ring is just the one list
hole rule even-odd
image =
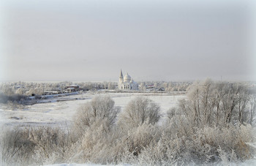
[[0, 106], [0, 124], [5, 125], [64, 125], [69, 124], [72, 116], [80, 105], [89, 102], [97, 95], [108, 95], [116, 106], [123, 110], [127, 103], [138, 96], [148, 97], [160, 105], [163, 114], [170, 107], [176, 106], [178, 99], [183, 99], [184, 94], [154, 94], [154, 93], [84, 93], [66, 97], [53, 97], [42, 100], [35, 105], [26, 105], [15, 109], [5, 105]]

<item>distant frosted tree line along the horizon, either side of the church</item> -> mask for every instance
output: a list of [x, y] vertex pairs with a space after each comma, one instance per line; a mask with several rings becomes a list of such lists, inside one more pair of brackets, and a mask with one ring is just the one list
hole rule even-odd
[[[13, 96], [15, 94], [23, 96], [42, 95], [44, 91], [59, 89], [63, 90], [67, 86], [71, 86], [73, 83], [69, 81], [59, 83], [27, 83], [27, 82], [11, 82], [11, 83], [0, 83], [0, 94], [6, 96]], [[186, 91], [191, 83], [187, 82], [140, 82], [140, 90], [146, 91], [146, 86], [153, 85], [155, 88], [165, 88], [165, 91]], [[75, 83], [80, 86], [83, 90], [91, 89], [116, 89], [117, 83], [114, 82], [80, 82]]]

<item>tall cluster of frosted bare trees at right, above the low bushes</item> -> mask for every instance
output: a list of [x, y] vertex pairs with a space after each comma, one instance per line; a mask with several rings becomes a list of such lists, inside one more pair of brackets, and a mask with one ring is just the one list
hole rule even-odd
[[187, 99], [175, 113], [183, 113], [192, 127], [218, 127], [228, 124], [255, 124], [256, 94], [243, 83], [195, 82]]

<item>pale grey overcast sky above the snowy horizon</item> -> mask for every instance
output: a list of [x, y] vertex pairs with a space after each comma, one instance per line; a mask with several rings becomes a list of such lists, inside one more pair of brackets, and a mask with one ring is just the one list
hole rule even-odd
[[0, 80], [256, 80], [253, 1], [0, 6]]

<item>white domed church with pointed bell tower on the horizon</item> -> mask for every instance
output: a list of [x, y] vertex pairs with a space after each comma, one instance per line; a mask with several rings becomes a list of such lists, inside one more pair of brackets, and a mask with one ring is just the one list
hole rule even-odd
[[139, 86], [138, 83], [136, 83], [134, 80], [132, 80], [131, 76], [124, 75], [120, 71], [120, 76], [119, 76], [119, 82], [118, 82], [118, 89], [120, 90], [138, 90]]

